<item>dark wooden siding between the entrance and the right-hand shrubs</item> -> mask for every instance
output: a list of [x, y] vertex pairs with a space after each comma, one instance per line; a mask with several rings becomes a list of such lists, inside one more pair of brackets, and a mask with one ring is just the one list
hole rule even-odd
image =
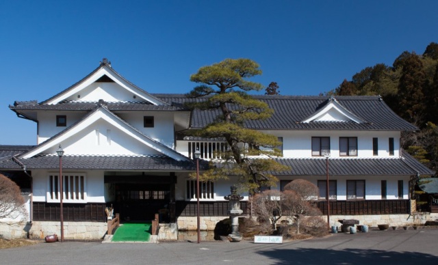
[[[247, 201], [240, 201], [240, 209], [247, 214]], [[199, 204], [199, 215], [201, 217], [227, 217], [229, 201], [201, 201]], [[196, 201], [177, 201], [177, 217], [196, 217]]]

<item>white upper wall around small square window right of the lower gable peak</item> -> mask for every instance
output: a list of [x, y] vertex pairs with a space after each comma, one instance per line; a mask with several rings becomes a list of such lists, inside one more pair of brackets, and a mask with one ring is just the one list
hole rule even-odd
[[[158, 111], [136, 111], [136, 112], [118, 112], [123, 120], [127, 121], [133, 127], [137, 128], [144, 135], [147, 135], [159, 141], [170, 148], [175, 146], [174, 137], [174, 113], [172, 112], [158, 112]], [[144, 128], [143, 117], [153, 116], [154, 117], [154, 127]]]

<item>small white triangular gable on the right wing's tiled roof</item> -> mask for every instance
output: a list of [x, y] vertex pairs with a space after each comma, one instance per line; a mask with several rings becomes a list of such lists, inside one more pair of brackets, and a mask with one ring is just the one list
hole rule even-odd
[[348, 111], [331, 96], [326, 106], [301, 122], [355, 122], [361, 124], [365, 121]]

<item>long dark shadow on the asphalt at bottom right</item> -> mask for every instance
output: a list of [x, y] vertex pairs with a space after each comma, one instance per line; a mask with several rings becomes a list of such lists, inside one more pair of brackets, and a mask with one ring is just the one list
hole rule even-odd
[[376, 249], [274, 249], [258, 253], [270, 257], [270, 264], [438, 264], [435, 255]]

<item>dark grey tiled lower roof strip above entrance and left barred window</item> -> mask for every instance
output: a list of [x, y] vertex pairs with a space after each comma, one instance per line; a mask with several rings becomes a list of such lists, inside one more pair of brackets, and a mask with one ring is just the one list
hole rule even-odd
[[[28, 170], [59, 169], [58, 156], [40, 155], [20, 159]], [[208, 165], [201, 163], [201, 168]], [[194, 171], [196, 164], [192, 161], [176, 161], [168, 156], [63, 156], [63, 169], [99, 169], [99, 170], [144, 170], [144, 171]], [[9, 159], [0, 161], [0, 169], [19, 170], [20, 165]]]

